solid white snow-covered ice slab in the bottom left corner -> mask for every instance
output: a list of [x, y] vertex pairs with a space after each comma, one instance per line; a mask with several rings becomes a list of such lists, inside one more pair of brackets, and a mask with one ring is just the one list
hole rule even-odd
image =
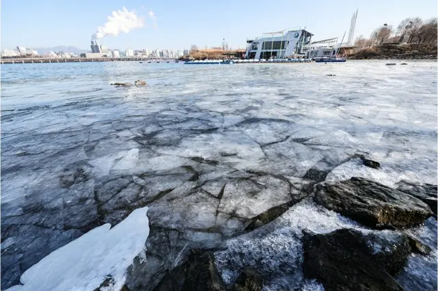
[[126, 269], [144, 251], [149, 236], [148, 208], [138, 208], [118, 225], [109, 223], [90, 230], [64, 247], [44, 257], [21, 275], [23, 285], [9, 291], [94, 290], [107, 275], [120, 290]]

